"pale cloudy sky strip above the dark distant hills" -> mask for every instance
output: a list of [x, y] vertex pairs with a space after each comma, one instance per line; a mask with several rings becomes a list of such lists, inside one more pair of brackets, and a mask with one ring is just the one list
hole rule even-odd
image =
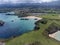
[[42, 2], [52, 2], [58, 0], [0, 0], [0, 4], [5, 3], [42, 3]]

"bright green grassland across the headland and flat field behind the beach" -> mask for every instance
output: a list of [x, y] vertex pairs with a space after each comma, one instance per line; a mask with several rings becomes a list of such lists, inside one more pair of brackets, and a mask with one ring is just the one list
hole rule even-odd
[[[60, 19], [59, 14], [47, 14], [41, 15], [40, 17], [47, 19]], [[38, 45], [60, 45], [60, 42], [57, 40], [49, 38], [43, 34], [45, 29], [53, 22], [60, 24], [60, 21], [48, 20], [47, 24], [39, 24], [40, 29], [38, 31], [28, 32], [14, 39], [11, 39], [6, 42], [6, 45], [29, 45], [36, 41], [40, 42]]]

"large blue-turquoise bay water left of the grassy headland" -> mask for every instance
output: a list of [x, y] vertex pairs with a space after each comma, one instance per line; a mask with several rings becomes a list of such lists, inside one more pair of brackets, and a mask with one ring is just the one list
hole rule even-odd
[[[10, 38], [12, 36], [18, 36], [25, 32], [32, 31], [35, 27], [36, 20], [20, 20], [18, 16], [5, 15], [0, 13], [0, 20], [5, 22], [4, 26], [0, 26], [0, 38]], [[12, 22], [13, 20], [13, 22]]]

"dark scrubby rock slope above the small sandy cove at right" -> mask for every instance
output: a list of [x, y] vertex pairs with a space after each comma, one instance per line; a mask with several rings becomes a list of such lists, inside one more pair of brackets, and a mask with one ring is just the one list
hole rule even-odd
[[53, 34], [57, 31], [60, 30], [60, 25], [56, 24], [56, 23], [52, 23], [47, 29], [46, 31], [48, 32], [48, 34]]

